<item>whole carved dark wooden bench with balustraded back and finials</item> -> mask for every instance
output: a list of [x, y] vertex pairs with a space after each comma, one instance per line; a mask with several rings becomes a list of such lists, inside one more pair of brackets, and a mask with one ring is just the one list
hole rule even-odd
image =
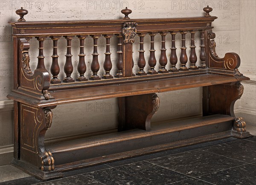
[[[169, 150], [227, 137], [250, 136], [242, 118], [236, 118], [234, 103], [243, 94], [240, 81], [249, 80], [238, 67], [239, 55], [227, 53], [219, 58], [215, 52], [215, 34], [212, 22], [217, 18], [209, 15], [212, 9], [204, 8], [205, 16], [164, 19], [134, 19], [125, 14], [119, 20], [79, 21], [25, 21], [25, 9], [16, 11], [18, 21], [10, 21], [14, 46], [14, 89], [8, 98], [14, 100], [14, 160], [13, 165], [43, 180], [59, 178], [62, 172], [91, 165], [112, 162], [143, 154]], [[200, 34], [200, 56], [195, 50], [195, 33]], [[145, 68], [143, 39], [151, 38], [150, 56]], [[155, 57], [154, 36], [161, 35], [161, 53]], [[166, 57], [166, 35], [171, 34], [170, 58]], [[175, 35], [181, 34], [180, 57], [176, 55]], [[191, 35], [189, 63], [186, 55], [186, 34]], [[106, 40], [105, 61], [99, 65], [97, 41]], [[132, 57], [134, 37], [140, 38], [139, 70], [133, 74]], [[39, 42], [38, 66], [34, 72], [29, 66], [29, 40]], [[64, 72], [58, 65], [58, 40], [67, 40]], [[92, 75], [85, 77], [84, 40], [93, 38]], [[117, 72], [111, 74], [110, 40], [117, 38]], [[44, 65], [44, 40], [51, 38], [53, 46], [50, 72]], [[71, 40], [79, 39], [80, 53], [77, 70], [73, 73]], [[113, 38], [112, 38], [113, 39]], [[169, 49], [167, 49], [169, 51]], [[77, 58], [78, 58], [77, 57]], [[198, 60], [200, 58], [200, 60]], [[177, 62], [180, 62], [180, 67]], [[166, 69], [167, 64], [170, 69]], [[159, 65], [160, 69], [155, 70]], [[177, 65], [177, 66], [176, 66]], [[98, 74], [99, 69], [104, 74]], [[177, 69], [178, 68], [178, 69]], [[111, 72], [111, 73], [110, 73]], [[51, 74], [51, 75], [50, 75]], [[52, 77], [51, 77], [52, 76]], [[151, 125], [160, 100], [156, 93], [203, 87], [203, 115], [198, 118]], [[118, 98], [118, 132], [100, 136], [77, 138], [51, 145], [44, 143], [46, 131], [52, 124], [52, 109], [60, 104]], [[53, 121], [54, 124], [54, 121]], [[73, 124], [76, 127], [76, 124]]]

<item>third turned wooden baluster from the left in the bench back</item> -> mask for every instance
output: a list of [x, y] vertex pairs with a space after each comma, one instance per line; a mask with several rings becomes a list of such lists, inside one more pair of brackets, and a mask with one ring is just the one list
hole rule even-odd
[[66, 63], [64, 65], [64, 72], [66, 74], [66, 77], [64, 78], [63, 82], [75, 82], [73, 78], [71, 78], [71, 74], [73, 72], [73, 65], [72, 65], [72, 56], [71, 55], [71, 40], [74, 38], [74, 36], [64, 36], [64, 38], [67, 40], [67, 54], [66, 56]]

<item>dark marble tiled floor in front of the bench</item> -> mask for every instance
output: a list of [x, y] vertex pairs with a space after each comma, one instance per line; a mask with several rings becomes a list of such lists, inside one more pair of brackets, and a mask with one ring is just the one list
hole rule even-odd
[[256, 185], [256, 136], [221, 139], [65, 172], [41, 182], [24, 177], [0, 185]]

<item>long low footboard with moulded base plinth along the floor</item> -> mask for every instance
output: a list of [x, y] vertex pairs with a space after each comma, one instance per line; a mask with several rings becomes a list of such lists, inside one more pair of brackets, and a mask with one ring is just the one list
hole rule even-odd
[[12, 162], [17, 168], [42, 180], [60, 178], [62, 172], [99, 165], [106, 162], [142, 156], [163, 150], [195, 145], [227, 137], [247, 138], [249, 132], [233, 131], [234, 117], [217, 114], [200, 118], [159, 123], [151, 130], [127, 130], [117, 133], [46, 143], [55, 160], [55, 170], [40, 171], [22, 160]]

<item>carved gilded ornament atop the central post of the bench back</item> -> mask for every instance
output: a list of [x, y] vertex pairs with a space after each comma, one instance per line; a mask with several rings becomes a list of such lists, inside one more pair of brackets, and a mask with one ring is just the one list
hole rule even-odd
[[138, 24], [134, 22], [124, 23], [122, 29], [122, 35], [124, 36], [124, 43], [134, 43], [134, 37], [137, 33], [136, 26]]

